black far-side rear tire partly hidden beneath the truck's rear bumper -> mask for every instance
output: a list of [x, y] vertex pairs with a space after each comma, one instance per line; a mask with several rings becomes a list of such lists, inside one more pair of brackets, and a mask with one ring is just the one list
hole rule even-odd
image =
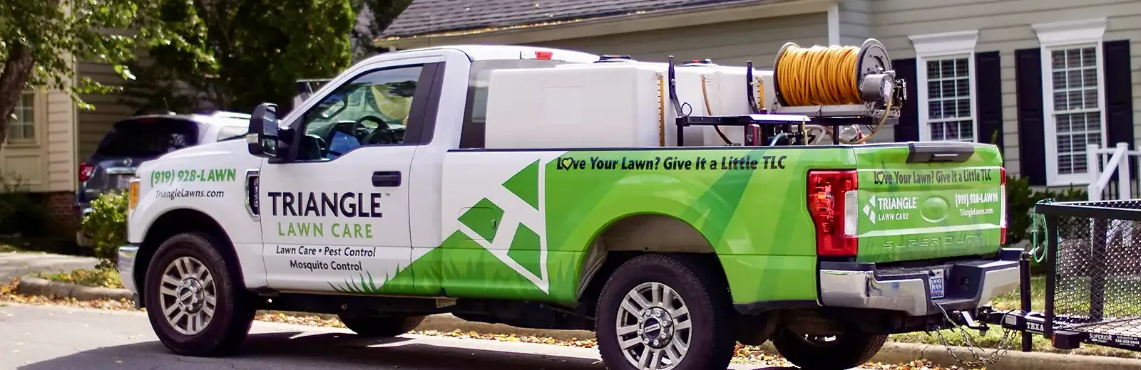
[[835, 340], [810, 340], [790, 330], [778, 330], [772, 345], [780, 355], [806, 370], [845, 370], [872, 360], [887, 335], [849, 331], [835, 336]]

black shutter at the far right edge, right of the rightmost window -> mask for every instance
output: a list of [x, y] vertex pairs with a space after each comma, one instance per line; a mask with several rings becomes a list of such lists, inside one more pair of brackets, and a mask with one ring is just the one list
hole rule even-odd
[[1130, 41], [1106, 41], [1102, 44], [1104, 61], [1102, 74], [1106, 76], [1106, 128], [1109, 142], [1103, 147], [1112, 147], [1118, 142], [1133, 143], [1133, 81], [1130, 76]]

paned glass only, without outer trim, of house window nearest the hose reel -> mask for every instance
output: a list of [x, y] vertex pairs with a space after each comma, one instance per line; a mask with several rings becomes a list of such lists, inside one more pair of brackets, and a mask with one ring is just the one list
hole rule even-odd
[[928, 140], [974, 141], [971, 58], [926, 61]]

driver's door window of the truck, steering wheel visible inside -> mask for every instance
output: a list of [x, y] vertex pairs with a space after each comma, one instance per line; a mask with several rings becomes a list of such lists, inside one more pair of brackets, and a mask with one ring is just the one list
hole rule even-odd
[[422, 66], [362, 74], [304, 115], [298, 159], [329, 161], [354, 148], [400, 145]]

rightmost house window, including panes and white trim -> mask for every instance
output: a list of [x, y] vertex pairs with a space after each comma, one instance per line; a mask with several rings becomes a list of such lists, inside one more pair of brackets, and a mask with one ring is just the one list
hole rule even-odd
[[1035, 24], [1042, 46], [1046, 184], [1089, 183], [1087, 145], [1106, 145], [1101, 39], [1106, 18]]

